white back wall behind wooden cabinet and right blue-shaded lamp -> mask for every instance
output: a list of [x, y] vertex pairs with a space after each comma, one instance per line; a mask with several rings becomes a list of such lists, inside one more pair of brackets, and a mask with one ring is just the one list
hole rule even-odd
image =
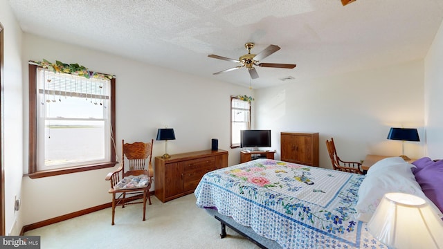
[[[401, 142], [387, 140], [390, 127], [424, 127], [424, 63], [408, 62], [289, 82], [255, 91], [256, 128], [273, 131], [280, 158], [280, 132], [318, 132], [320, 167], [332, 168], [325, 140], [333, 137], [343, 160], [366, 154], [401, 154]], [[405, 154], [423, 156], [423, 142], [405, 142]]]

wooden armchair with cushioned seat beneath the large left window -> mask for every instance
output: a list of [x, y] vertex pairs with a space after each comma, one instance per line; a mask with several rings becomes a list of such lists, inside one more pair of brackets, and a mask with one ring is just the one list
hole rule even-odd
[[[151, 142], [125, 143], [122, 140], [122, 159], [120, 167], [114, 172], [107, 174], [105, 180], [111, 182], [109, 193], [112, 194], [112, 225], [114, 225], [114, 216], [116, 206], [143, 203], [143, 221], [145, 221], [146, 201], [151, 196], [150, 188], [154, 170], [152, 169], [152, 145]], [[127, 164], [125, 164], [127, 161]], [[126, 168], [125, 168], [126, 167]], [[143, 196], [142, 196], [143, 194]], [[134, 201], [143, 198], [143, 201]]]

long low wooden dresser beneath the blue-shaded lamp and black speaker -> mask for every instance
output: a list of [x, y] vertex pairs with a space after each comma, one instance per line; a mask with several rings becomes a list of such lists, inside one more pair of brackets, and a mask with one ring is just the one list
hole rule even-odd
[[207, 172], [228, 167], [228, 151], [204, 150], [171, 155], [170, 158], [156, 156], [154, 165], [155, 196], [170, 201], [194, 192], [201, 177]]

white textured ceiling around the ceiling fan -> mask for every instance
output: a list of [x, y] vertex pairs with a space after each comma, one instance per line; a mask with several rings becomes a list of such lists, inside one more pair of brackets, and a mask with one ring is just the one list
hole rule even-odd
[[[253, 88], [422, 59], [443, 19], [443, 0], [10, 0], [26, 33], [148, 64], [249, 86], [238, 59], [275, 44]], [[29, 58], [40, 59], [40, 58]], [[87, 65], [86, 65], [87, 66]], [[289, 81], [285, 81], [287, 83]]]

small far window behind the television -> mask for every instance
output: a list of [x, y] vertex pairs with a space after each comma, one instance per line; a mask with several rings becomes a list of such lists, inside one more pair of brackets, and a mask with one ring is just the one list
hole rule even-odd
[[230, 147], [240, 147], [240, 131], [251, 129], [251, 102], [230, 97]]

